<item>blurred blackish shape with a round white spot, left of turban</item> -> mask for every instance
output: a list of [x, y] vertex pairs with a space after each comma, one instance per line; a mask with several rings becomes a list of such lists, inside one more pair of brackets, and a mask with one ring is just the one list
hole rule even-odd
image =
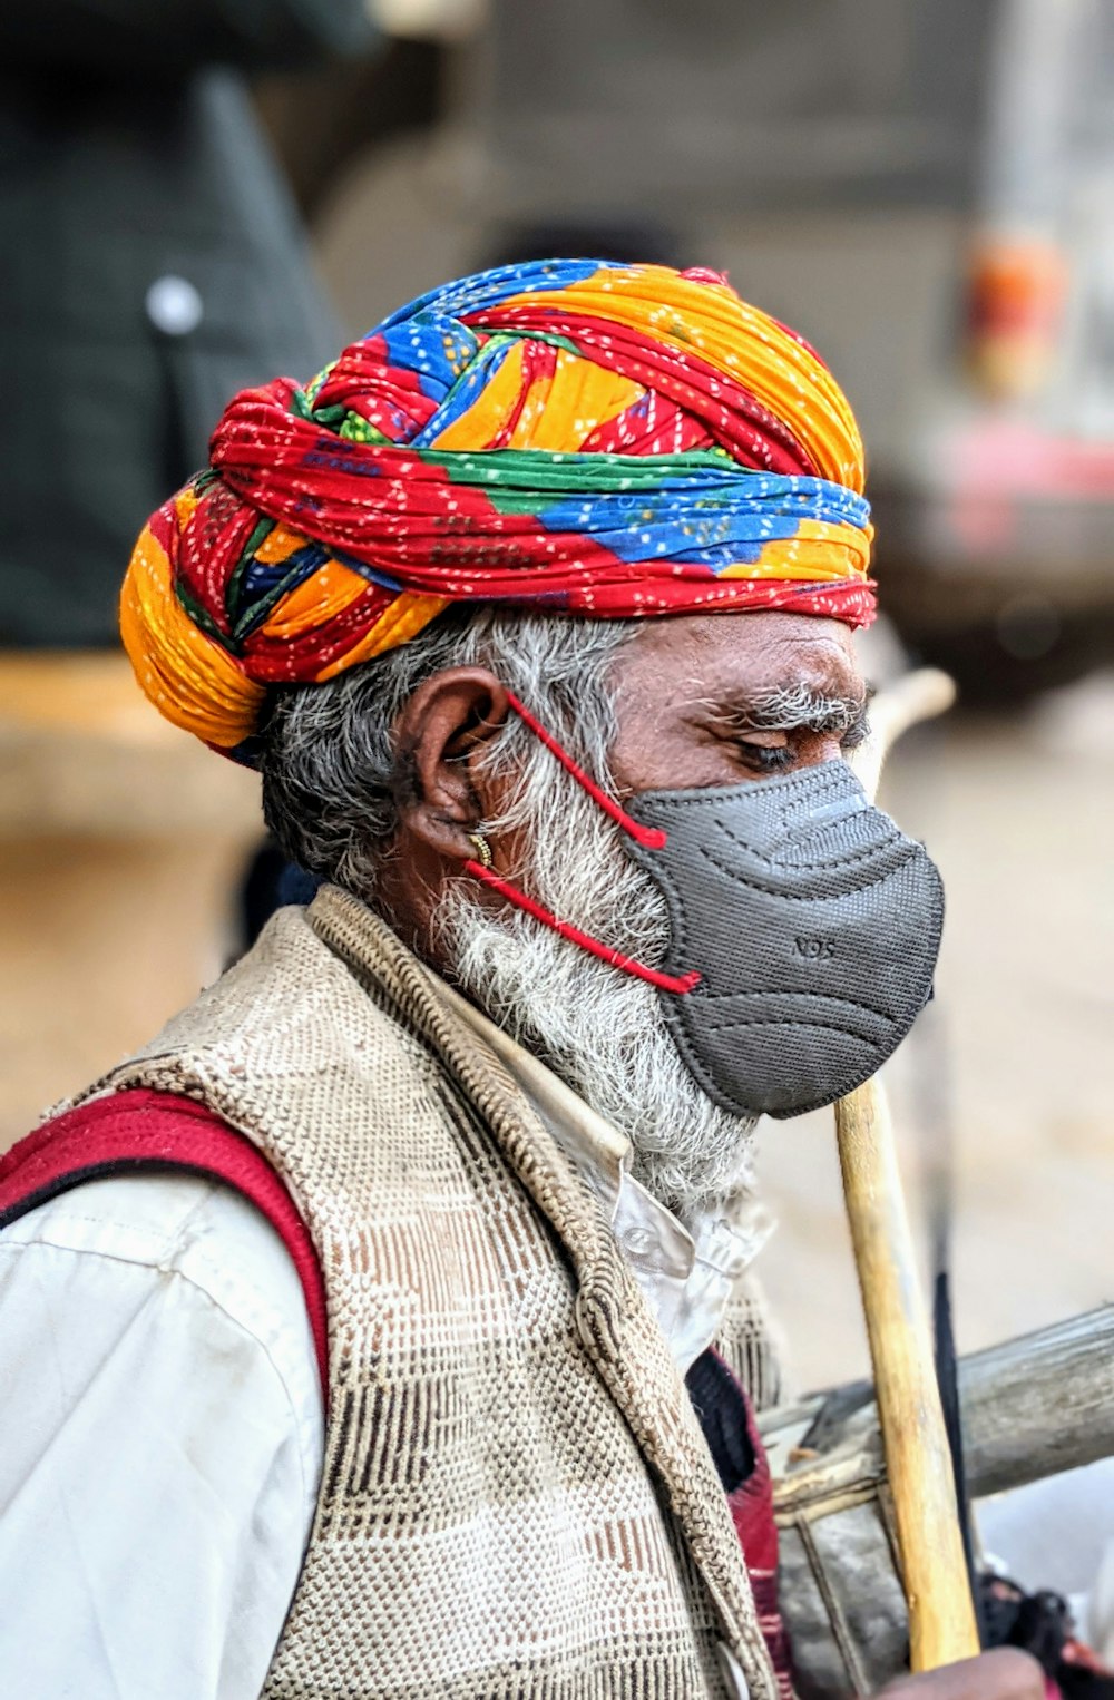
[[114, 644], [228, 396], [335, 354], [242, 73], [369, 41], [362, 0], [0, 7], [2, 644]]

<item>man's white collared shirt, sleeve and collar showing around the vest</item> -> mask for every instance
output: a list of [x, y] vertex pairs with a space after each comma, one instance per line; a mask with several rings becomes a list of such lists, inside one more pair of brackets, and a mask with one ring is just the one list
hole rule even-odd
[[[588, 1180], [680, 1368], [755, 1236], [696, 1238], [629, 1146], [447, 993]], [[257, 1700], [321, 1470], [318, 1365], [282, 1241], [196, 1176], [95, 1180], [0, 1236], [0, 1671], [19, 1700]]]

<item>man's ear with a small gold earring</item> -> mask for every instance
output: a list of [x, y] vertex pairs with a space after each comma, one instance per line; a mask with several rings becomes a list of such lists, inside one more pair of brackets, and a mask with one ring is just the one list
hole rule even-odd
[[449, 666], [418, 685], [395, 722], [400, 824], [440, 857], [475, 857], [468, 835], [497, 813], [476, 758], [507, 714], [495, 673]]

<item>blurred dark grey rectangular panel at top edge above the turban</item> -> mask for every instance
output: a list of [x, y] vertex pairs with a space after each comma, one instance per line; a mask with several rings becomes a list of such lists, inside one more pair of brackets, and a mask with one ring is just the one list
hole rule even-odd
[[583, 216], [954, 204], [986, 0], [497, 0], [505, 199]]

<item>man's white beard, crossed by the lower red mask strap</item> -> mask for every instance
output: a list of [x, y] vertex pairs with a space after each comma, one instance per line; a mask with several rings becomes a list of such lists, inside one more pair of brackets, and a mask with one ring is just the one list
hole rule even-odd
[[[575, 780], [549, 770], [512, 818], [531, 845], [514, 872], [526, 892], [626, 955], [660, 962], [665, 901]], [[692, 1221], [750, 1183], [757, 1117], [726, 1114], [697, 1086], [653, 986], [510, 904], [492, 910], [471, 879], [447, 887], [435, 932], [463, 991], [626, 1134], [634, 1175], [667, 1209]]]

